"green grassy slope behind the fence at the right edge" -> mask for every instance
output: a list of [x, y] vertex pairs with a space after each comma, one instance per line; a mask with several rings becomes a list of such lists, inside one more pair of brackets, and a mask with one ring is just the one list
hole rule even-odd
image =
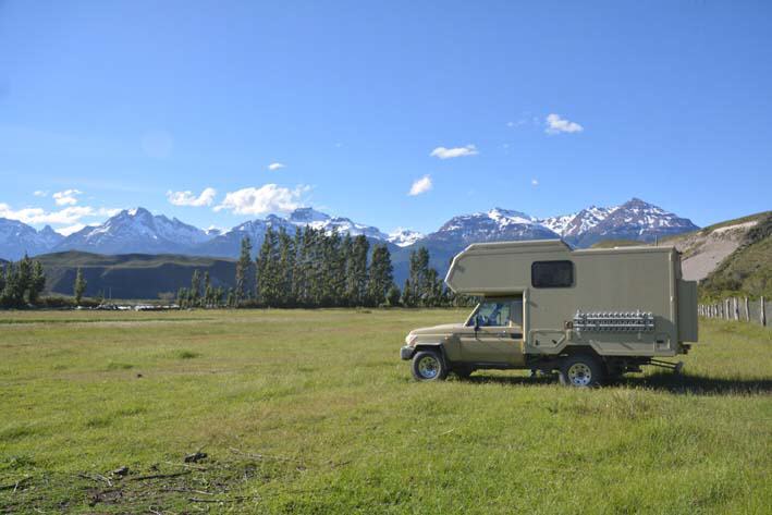
[[763, 213], [743, 244], [700, 282], [700, 287], [707, 298], [737, 293], [772, 297], [772, 213]]

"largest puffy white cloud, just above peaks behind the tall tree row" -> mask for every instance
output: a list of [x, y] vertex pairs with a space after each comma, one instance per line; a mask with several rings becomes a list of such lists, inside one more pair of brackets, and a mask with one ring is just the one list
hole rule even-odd
[[225, 199], [215, 208], [215, 211], [230, 210], [235, 214], [292, 211], [302, 206], [303, 194], [308, 189], [308, 186], [297, 186], [290, 189], [277, 184], [245, 187], [225, 194]]

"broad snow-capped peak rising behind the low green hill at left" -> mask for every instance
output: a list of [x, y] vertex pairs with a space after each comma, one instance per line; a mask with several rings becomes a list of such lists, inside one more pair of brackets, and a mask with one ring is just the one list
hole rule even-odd
[[144, 208], [123, 210], [101, 225], [86, 226], [71, 234], [52, 250], [85, 250], [97, 254], [191, 254], [211, 240], [176, 218], [154, 216]]

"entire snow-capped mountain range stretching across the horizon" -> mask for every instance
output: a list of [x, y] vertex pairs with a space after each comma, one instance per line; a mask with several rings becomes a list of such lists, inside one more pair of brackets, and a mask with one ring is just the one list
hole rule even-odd
[[22, 222], [0, 218], [0, 258], [19, 259], [25, 253], [35, 256], [47, 253], [81, 250], [101, 255], [176, 254], [233, 258], [238, 255], [241, 241], [249, 236], [255, 252], [266, 230], [311, 226], [336, 230], [352, 235], [364, 234], [371, 242], [387, 243], [395, 266], [413, 248], [426, 246], [439, 269], [474, 242], [517, 241], [562, 237], [576, 247], [589, 247], [603, 240], [655, 238], [694, 231], [690, 220], [633, 198], [611, 208], [588, 207], [578, 212], [537, 219], [524, 212], [494, 208], [487, 212], [452, 218], [436, 232], [424, 235], [400, 229], [391, 234], [357, 223], [348, 218], [332, 217], [311, 208], [301, 208], [286, 218], [270, 214], [250, 220], [228, 231], [203, 230], [176, 218], [152, 214], [144, 208], [123, 210], [96, 226], [86, 226], [62, 236], [46, 226], [40, 231]]

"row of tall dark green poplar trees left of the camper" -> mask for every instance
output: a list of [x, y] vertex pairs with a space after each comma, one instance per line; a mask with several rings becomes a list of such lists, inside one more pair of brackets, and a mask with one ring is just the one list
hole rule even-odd
[[391, 253], [364, 235], [352, 237], [314, 228], [268, 229], [253, 260], [253, 245], [242, 240], [235, 287], [213, 286], [208, 272], [194, 271], [189, 289], [181, 289], [182, 307], [433, 307], [467, 305], [444, 287], [429, 266], [426, 248], [410, 255], [403, 289], [394, 284]]

